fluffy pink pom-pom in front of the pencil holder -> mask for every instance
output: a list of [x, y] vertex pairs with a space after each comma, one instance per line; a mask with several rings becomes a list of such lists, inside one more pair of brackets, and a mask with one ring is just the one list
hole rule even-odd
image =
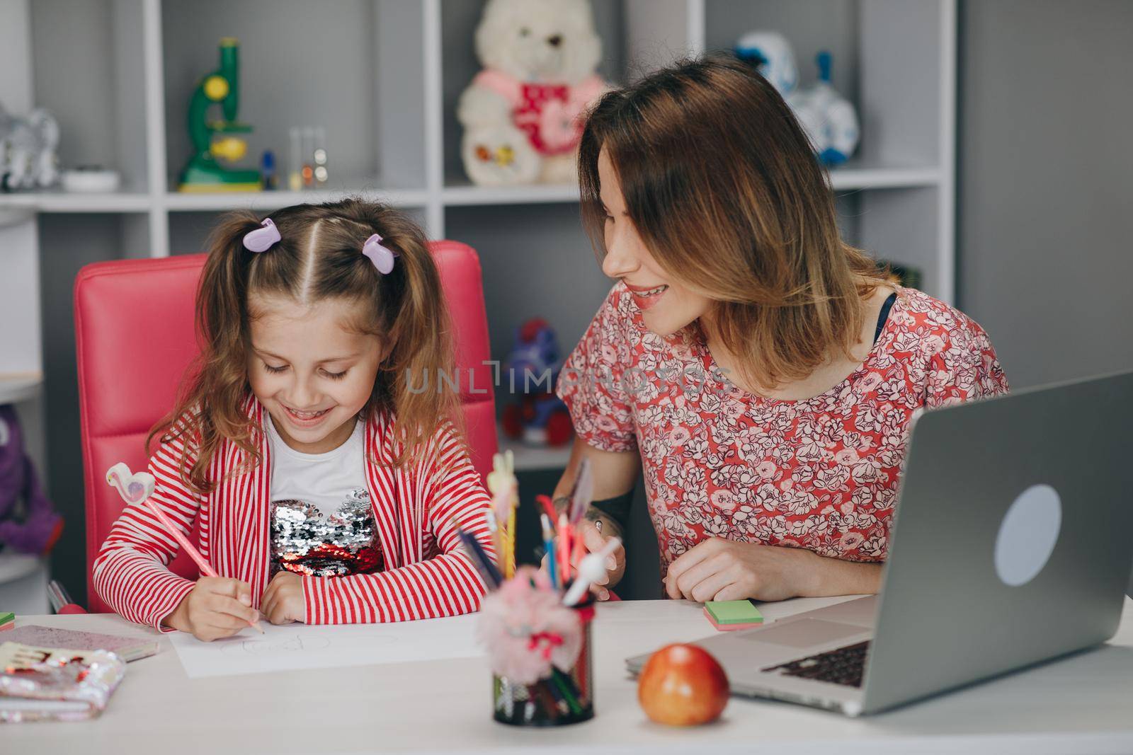
[[570, 671], [582, 647], [578, 611], [546, 574], [521, 566], [516, 576], [484, 599], [477, 637], [486, 649], [492, 672], [529, 685], [551, 676], [552, 666]]

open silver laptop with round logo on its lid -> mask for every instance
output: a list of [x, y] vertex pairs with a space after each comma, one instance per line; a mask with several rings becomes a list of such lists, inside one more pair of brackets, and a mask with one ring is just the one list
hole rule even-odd
[[849, 715], [1100, 644], [1133, 566], [1131, 428], [1133, 372], [922, 413], [881, 595], [697, 644], [735, 694]]

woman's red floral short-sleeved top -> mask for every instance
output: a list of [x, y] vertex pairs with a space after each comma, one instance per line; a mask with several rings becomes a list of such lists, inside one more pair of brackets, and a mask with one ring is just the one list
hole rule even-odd
[[621, 283], [559, 380], [581, 438], [640, 452], [662, 576], [714, 537], [885, 560], [913, 412], [1006, 392], [983, 329], [914, 289], [861, 367], [803, 401], [732, 385], [699, 326], [650, 332]]

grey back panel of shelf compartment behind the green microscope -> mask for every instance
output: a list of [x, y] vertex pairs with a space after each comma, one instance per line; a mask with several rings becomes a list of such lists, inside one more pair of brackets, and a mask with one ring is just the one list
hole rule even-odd
[[[216, 67], [218, 42], [240, 41], [239, 120], [258, 168], [275, 153], [281, 177], [289, 129], [326, 130], [327, 168], [337, 175], [386, 172], [395, 182], [423, 182], [424, 108], [418, 3], [387, 0], [185, 0], [162, 6], [168, 168], [179, 173], [190, 154], [189, 97]], [[383, 171], [383, 162], [389, 170]]]

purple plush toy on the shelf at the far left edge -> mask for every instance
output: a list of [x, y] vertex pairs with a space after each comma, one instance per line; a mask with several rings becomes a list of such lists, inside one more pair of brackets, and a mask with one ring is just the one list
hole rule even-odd
[[0, 406], [0, 547], [22, 554], [46, 554], [63, 530], [62, 518], [43, 495], [16, 410]]

